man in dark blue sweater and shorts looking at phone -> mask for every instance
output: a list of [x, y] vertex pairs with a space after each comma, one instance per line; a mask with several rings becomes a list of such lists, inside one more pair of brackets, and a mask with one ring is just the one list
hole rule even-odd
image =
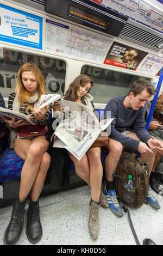
[[[163, 148], [163, 144], [152, 138], [144, 126], [144, 106], [155, 89], [151, 82], [140, 80], [133, 84], [128, 95], [113, 97], [104, 109], [104, 118], [107, 112], [111, 112], [111, 133], [109, 139], [109, 154], [105, 159], [106, 186], [104, 194], [108, 200], [110, 209], [118, 216], [123, 216], [123, 210], [118, 203], [115, 193], [113, 174], [116, 171], [118, 161], [120, 160], [123, 146], [139, 151], [144, 162], [149, 164], [149, 175], [154, 163], [155, 148]], [[127, 132], [131, 125], [134, 126], [134, 132]], [[159, 203], [153, 197], [151, 187], [147, 196], [147, 201], [156, 209], [160, 208]]]

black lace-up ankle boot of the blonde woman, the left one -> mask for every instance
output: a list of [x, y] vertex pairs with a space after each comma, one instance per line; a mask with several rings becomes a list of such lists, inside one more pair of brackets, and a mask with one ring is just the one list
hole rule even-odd
[[5, 230], [4, 245], [15, 245], [22, 234], [24, 225], [24, 208], [27, 199], [20, 203], [17, 198], [12, 209], [12, 216], [10, 223]]

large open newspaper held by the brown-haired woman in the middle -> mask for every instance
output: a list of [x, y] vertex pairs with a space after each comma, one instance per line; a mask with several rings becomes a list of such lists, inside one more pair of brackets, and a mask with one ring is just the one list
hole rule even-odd
[[80, 160], [99, 134], [108, 129], [113, 119], [99, 122], [91, 109], [82, 103], [61, 100], [60, 105], [68, 118], [62, 120], [55, 130], [53, 147], [66, 148]]

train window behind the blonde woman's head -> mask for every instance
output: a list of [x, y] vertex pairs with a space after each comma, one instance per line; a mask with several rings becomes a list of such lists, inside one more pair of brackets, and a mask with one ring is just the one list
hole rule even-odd
[[45, 77], [48, 93], [64, 95], [66, 74], [64, 61], [3, 49], [3, 56], [0, 57], [0, 88], [3, 97], [8, 97], [15, 91], [17, 72], [26, 62], [34, 62], [39, 66]]

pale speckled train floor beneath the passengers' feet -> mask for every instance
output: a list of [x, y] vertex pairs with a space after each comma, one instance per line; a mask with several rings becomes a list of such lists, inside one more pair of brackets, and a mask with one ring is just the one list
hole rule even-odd
[[[156, 245], [163, 245], [163, 197], [153, 192], [161, 209], [154, 210], [143, 204], [130, 210], [135, 231], [142, 244], [150, 238]], [[43, 235], [37, 245], [135, 245], [127, 214], [116, 217], [110, 209], [100, 209], [101, 228], [98, 239], [91, 239], [87, 223], [89, 219], [89, 186], [75, 188], [52, 196], [40, 198], [40, 218]], [[17, 245], [31, 245], [26, 236], [27, 206], [24, 229]], [[12, 206], [0, 209], [0, 245], [3, 245], [5, 229], [10, 221]]]

